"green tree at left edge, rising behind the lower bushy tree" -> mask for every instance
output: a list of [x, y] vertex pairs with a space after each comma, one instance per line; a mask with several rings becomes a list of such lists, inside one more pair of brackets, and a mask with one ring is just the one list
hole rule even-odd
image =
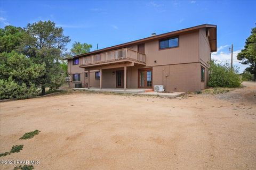
[[0, 29], [0, 53], [10, 53], [12, 50], [18, 50], [21, 47], [25, 31], [20, 27], [12, 25]]

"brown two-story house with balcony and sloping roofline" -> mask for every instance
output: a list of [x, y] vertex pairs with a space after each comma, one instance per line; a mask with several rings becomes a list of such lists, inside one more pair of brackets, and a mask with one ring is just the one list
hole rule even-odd
[[206, 87], [217, 25], [154, 35], [68, 58], [71, 88], [154, 88], [196, 91]]

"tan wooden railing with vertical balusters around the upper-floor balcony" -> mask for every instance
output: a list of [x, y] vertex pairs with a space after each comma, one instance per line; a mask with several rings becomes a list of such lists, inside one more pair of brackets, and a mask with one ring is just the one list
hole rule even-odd
[[128, 59], [132, 61], [137, 61], [140, 63], [146, 63], [146, 55], [140, 52], [136, 52], [135, 50], [129, 48], [122, 48], [113, 50], [106, 53], [100, 53], [97, 55], [86, 56], [80, 58], [80, 65], [90, 65], [90, 64], [98, 64], [105, 63], [111, 61], [117, 61], [122, 59]]

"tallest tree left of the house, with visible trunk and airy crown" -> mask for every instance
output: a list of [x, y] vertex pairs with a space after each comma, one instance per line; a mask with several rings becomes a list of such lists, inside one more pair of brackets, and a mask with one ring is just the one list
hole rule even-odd
[[45, 64], [46, 72], [37, 79], [42, 95], [45, 87], [57, 89], [64, 81], [65, 74], [60, 66], [66, 45], [70, 39], [63, 35], [63, 29], [55, 27], [51, 21], [39, 21], [25, 27], [23, 53], [37, 64]]

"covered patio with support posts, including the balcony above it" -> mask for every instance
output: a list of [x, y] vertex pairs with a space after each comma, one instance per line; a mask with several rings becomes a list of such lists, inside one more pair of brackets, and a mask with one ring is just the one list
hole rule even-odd
[[[132, 78], [131, 75], [127, 75], [127, 72], [130, 71], [129, 73], [132, 74], [132, 67], [145, 66], [146, 55], [129, 48], [123, 48], [97, 55], [85, 56], [80, 58], [80, 61], [79, 67], [83, 68], [88, 74], [88, 89], [93, 88], [90, 84], [90, 71], [99, 70], [99, 89], [103, 90], [103, 88], [108, 87], [113, 88], [110, 91], [119, 91], [119, 88], [123, 88], [121, 91], [124, 91], [129, 88], [132, 89], [138, 87], [138, 78], [137, 75], [135, 75], [138, 74], [137, 70], [134, 70], [135, 72], [133, 72], [133, 74], [135, 76]], [[111, 69], [112, 72], [109, 72]], [[137, 82], [137, 84], [131, 85], [131, 81], [134, 83]], [[114, 87], [118, 89], [114, 89]], [[132, 91], [130, 90], [130, 92]], [[135, 92], [136, 91], [138, 90], [135, 90]]]

